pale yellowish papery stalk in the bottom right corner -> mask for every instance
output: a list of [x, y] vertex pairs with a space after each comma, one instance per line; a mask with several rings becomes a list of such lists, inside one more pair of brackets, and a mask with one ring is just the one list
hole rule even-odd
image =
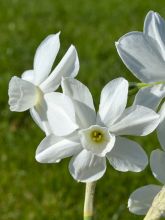
[[144, 220], [159, 220], [165, 214], [165, 186], [155, 196], [152, 206]]

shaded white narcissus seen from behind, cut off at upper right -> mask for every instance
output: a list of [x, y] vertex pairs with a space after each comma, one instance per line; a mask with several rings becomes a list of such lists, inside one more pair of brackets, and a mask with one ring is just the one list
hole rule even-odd
[[[130, 32], [116, 42], [117, 51], [124, 64], [144, 83], [157, 83], [139, 90], [135, 105], [157, 109], [165, 97], [165, 20], [150, 11], [144, 21], [143, 32]], [[160, 110], [161, 122], [158, 138], [165, 147], [165, 107]]]

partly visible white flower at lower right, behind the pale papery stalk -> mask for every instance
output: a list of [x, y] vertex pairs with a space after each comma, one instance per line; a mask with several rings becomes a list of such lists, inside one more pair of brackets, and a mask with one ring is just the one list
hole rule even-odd
[[[165, 151], [165, 147], [163, 150]], [[152, 205], [155, 196], [165, 185], [165, 152], [159, 149], [152, 151], [150, 166], [154, 177], [160, 181], [161, 185], [146, 185], [135, 190], [128, 200], [130, 212], [137, 215], [145, 215]]]

